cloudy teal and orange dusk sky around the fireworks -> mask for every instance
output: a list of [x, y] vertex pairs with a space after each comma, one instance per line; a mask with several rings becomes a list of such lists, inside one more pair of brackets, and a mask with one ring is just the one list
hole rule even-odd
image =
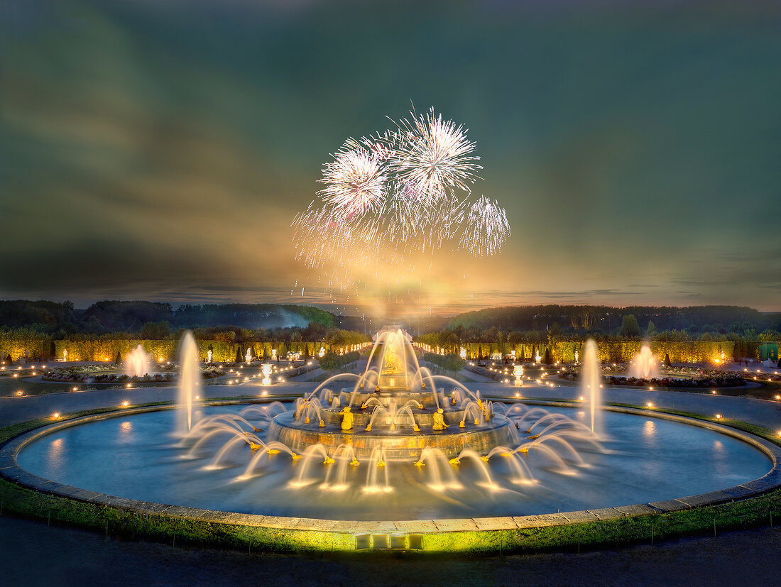
[[779, 63], [777, 2], [3, 0], [0, 298], [326, 303], [291, 220], [412, 102], [512, 237], [410, 311], [781, 311]]

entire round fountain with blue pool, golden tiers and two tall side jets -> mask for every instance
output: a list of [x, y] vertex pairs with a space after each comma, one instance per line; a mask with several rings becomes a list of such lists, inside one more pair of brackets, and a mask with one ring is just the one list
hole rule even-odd
[[[23, 464], [123, 498], [348, 521], [651, 503], [720, 489], [733, 474], [757, 478], [768, 466], [753, 446], [711, 430], [657, 414], [603, 413], [593, 341], [581, 349], [590, 410], [489, 399], [421, 368], [407, 333], [388, 328], [361, 373], [334, 375], [294, 401], [265, 400], [260, 390], [248, 405], [199, 406], [195, 420], [197, 359], [187, 334], [177, 409], [55, 429], [25, 449]], [[609, 436], [599, 436], [602, 429]], [[71, 434], [78, 443], [63, 443]], [[79, 450], [52, 460], [60, 444]], [[689, 450], [671, 459], [669, 446]], [[723, 462], [730, 467], [717, 466]]]

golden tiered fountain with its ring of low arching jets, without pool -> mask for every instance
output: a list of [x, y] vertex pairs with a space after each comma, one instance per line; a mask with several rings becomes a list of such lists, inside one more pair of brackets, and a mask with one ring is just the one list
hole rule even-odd
[[[343, 387], [345, 383], [348, 386]], [[592, 411], [598, 408], [595, 401]], [[181, 409], [191, 414], [191, 402], [181, 398], [180, 402]], [[214, 443], [225, 435], [227, 440]], [[587, 425], [563, 414], [521, 403], [484, 401], [479, 391], [450, 377], [433, 375], [419, 365], [412, 338], [398, 327], [378, 333], [362, 374], [326, 379], [312, 393], [298, 398], [291, 410], [275, 402], [247, 407], [239, 414], [207, 416], [191, 426], [181, 446], [190, 447], [191, 458], [202, 458], [206, 447], [212, 446], [216, 452], [207, 468], [215, 470], [235, 463], [232, 458], [242, 445], [248, 445], [253, 456], [237, 477], [239, 481], [254, 478], [268, 467], [264, 457], [284, 453], [294, 463], [303, 459], [290, 480], [291, 487], [316, 481], [313, 464], [338, 461], [337, 474], [326, 472], [323, 488], [346, 489], [348, 465], [366, 463], [371, 469], [363, 489], [369, 492], [406, 483], [398, 475], [391, 483], [386, 466], [391, 463], [392, 468], [430, 465], [426, 486], [442, 490], [462, 487], [448, 462], [457, 467], [467, 459], [478, 468], [481, 486], [499, 489], [489, 466], [493, 457], [505, 457], [500, 459], [504, 461], [500, 475], [517, 485], [535, 480], [522, 458], [531, 449], [547, 470], [564, 474], [583, 464], [579, 454], [583, 446], [591, 452], [600, 449]], [[377, 468], [382, 468], [382, 475], [376, 473]]]

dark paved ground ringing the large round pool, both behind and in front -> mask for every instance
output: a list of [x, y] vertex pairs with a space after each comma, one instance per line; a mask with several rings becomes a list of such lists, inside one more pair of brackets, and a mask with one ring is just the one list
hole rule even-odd
[[[273, 386], [272, 396], [304, 393], [316, 383]], [[526, 385], [520, 390], [495, 382], [470, 387], [484, 395], [539, 398], [579, 397], [575, 386]], [[256, 383], [205, 386], [205, 397], [259, 395]], [[176, 390], [159, 387], [0, 397], [0, 425], [91, 407], [173, 400]], [[606, 401], [721, 413], [781, 430], [781, 404], [700, 393], [605, 389]], [[105, 541], [99, 533], [48, 528], [44, 522], [0, 517], [2, 585], [776, 585], [781, 576], [781, 529], [731, 532], [680, 539], [656, 546], [591, 553], [512, 557], [406, 555], [383, 557], [279, 557], [263, 554], [173, 548], [153, 543]]]

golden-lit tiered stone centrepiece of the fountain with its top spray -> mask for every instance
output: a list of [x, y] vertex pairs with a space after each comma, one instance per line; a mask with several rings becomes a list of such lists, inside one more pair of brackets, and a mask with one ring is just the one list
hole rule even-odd
[[383, 329], [366, 371], [347, 375], [355, 379], [353, 385], [333, 393], [328, 387], [339, 379], [345, 375], [324, 382], [294, 411], [273, 418], [266, 439], [297, 453], [318, 443], [326, 448], [344, 444], [358, 459], [379, 449], [384, 459], [415, 461], [426, 448], [455, 457], [463, 450], [485, 453], [517, 436], [512, 420], [495, 413], [479, 392], [420, 368], [401, 329]]

